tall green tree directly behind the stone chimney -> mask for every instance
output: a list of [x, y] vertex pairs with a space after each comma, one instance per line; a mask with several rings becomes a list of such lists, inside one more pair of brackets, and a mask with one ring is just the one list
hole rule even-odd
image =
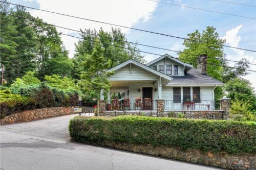
[[[185, 45], [185, 49], [182, 52], [188, 54], [179, 53], [179, 59], [183, 59], [184, 62], [192, 64], [196, 67], [197, 57], [202, 54], [206, 54], [208, 63], [207, 74], [211, 77], [214, 77], [215, 79], [222, 80], [223, 67], [214, 65], [225, 65], [225, 54], [223, 52], [222, 46], [225, 43], [225, 40], [219, 37], [219, 34], [216, 32], [216, 28], [207, 27], [206, 30], [203, 30], [202, 33], [196, 30], [194, 33], [187, 34], [187, 36], [188, 38], [185, 39], [183, 42], [183, 45]], [[199, 41], [204, 41], [208, 43], [203, 43]]]

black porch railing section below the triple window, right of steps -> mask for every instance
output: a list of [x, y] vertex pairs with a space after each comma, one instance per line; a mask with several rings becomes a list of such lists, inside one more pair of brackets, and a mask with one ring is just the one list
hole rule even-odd
[[215, 100], [164, 101], [164, 110], [219, 110], [220, 102]]

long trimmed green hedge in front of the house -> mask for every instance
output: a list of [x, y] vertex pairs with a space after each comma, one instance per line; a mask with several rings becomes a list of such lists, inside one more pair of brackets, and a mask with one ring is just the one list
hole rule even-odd
[[86, 143], [109, 140], [181, 147], [184, 150], [256, 153], [255, 122], [145, 116], [77, 116], [70, 120], [69, 131], [74, 141]]

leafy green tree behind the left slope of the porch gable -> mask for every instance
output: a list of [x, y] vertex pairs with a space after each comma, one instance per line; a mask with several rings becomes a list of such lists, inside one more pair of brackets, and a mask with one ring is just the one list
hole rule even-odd
[[81, 71], [86, 71], [89, 67], [83, 64], [87, 61], [88, 55], [92, 55], [95, 46], [100, 44], [104, 57], [104, 62], [107, 64], [106, 69], [118, 65], [128, 59], [134, 59], [138, 62], [144, 63], [145, 60], [138, 50], [137, 44], [126, 42], [125, 35], [120, 29], [112, 28], [111, 32], [104, 32], [102, 28], [97, 32], [96, 30], [80, 30], [83, 40], [79, 40], [76, 46], [75, 55], [73, 59], [74, 69], [72, 77], [79, 79]]

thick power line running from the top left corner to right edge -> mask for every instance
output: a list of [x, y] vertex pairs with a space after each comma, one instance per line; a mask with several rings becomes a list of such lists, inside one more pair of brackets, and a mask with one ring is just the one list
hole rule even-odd
[[30, 8], [30, 9], [34, 9], [34, 10], [39, 10], [39, 11], [54, 13], [54, 14], [58, 14], [58, 15], [69, 16], [69, 17], [73, 17], [73, 18], [77, 18], [77, 19], [83, 19], [83, 20], [88, 20], [88, 21], [93, 21], [93, 22], [98, 22], [98, 23], [104, 23], [104, 24], [106, 24], [106, 25], [112, 25], [112, 26], [116, 26], [116, 27], [122, 27], [122, 28], [127, 28], [127, 29], [132, 29], [132, 30], [137, 30], [137, 31], [142, 31], [142, 32], [157, 34], [157, 35], [163, 35], [163, 36], [168, 36], [168, 37], [173, 37], [173, 38], [179, 38], [179, 39], [189, 40], [189, 41], [196, 41], [196, 42], [207, 43], [207, 44], [212, 44], [212, 45], [219, 45], [219, 46], [225, 46], [225, 47], [230, 47], [230, 48], [236, 48], [236, 49], [239, 49], [239, 50], [245, 50], [245, 51], [250, 51], [250, 52], [256, 52], [255, 50], [248, 50], [248, 49], [245, 49], [245, 48], [239, 48], [239, 47], [228, 46], [228, 45], [223, 45], [223, 44], [210, 43], [210, 42], [201, 41], [201, 40], [194, 40], [194, 39], [189, 39], [189, 38], [183, 38], [183, 37], [178, 37], [178, 36], [174, 36], [174, 35], [168, 35], [168, 34], [164, 34], [164, 33], [157, 33], [157, 32], [148, 31], [148, 30], [141, 30], [141, 29], [126, 27], [126, 26], [116, 25], [116, 24], [114, 24], [114, 23], [103, 22], [103, 21], [97, 21], [97, 20], [93, 20], [93, 19], [82, 18], [82, 17], [78, 17], [78, 16], [73, 16], [73, 15], [68, 15], [68, 14], [63, 14], [63, 13], [48, 11], [48, 10], [42, 10], [42, 9], [37, 9], [37, 8], [33, 8], [33, 7], [23, 6], [23, 5], [17, 5], [17, 4], [8, 3], [8, 2], [3, 2], [3, 1], [0, 1], [0, 2], [2, 2], [2, 3], [7, 3], [7, 4], [10, 4], [10, 5], [20, 6], [20, 7], [24, 7], [24, 8]]

